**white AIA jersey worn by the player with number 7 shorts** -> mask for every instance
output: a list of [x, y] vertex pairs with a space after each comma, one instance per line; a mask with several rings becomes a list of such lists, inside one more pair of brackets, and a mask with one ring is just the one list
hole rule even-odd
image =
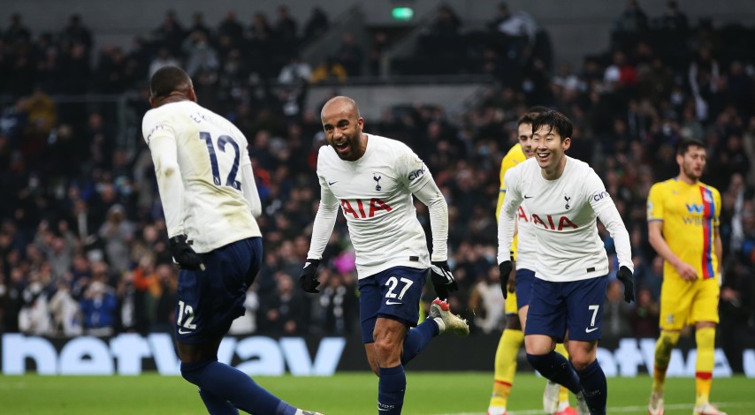
[[[538, 278], [566, 282], [608, 274], [608, 257], [596, 218], [604, 209], [615, 211], [615, 206], [606, 186], [587, 163], [567, 156], [561, 177], [546, 180], [538, 161], [532, 158], [509, 170], [505, 179], [507, 193], [502, 209], [507, 215], [515, 215], [517, 207], [523, 205], [519, 231], [529, 228], [535, 233]], [[614, 217], [606, 214], [609, 216]], [[523, 222], [527, 225], [521, 226]], [[617, 243], [617, 251], [622, 245], [619, 259], [633, 269], [631, 253], [624, 252], [629, 251], [629, 234], [621, 220], [619, 223], [615, 225], [622, 239]], [[521, 246], [522, 239], [527, 238], [519, 238]]]

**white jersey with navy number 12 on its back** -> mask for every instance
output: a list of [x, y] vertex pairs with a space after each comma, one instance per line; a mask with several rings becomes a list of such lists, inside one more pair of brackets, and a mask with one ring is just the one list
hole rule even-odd
[[[147, 111], [141, 131], [153, 152], [162, 151], [153, 148], [153, 141], [175, 142], [177, 154], [167, 156], [175, 157], [179, 165], [184, 186], [182, 197], [177, 198], [180, 200], [169, 197], [173, 190], [167, 188], [170, 186], [158, 183], [169, 237], [186, 234], [193, 241], [194, 251], [207, 253], [261, 236], [241, 192], [240, 169], [251, 162], [247, 139], [235, 125], [196, 102], [181, 101]], [[153, 160], [157, 160], [156, 155]], [[169, 204], [179, 212], [177, 217], [168, 217]]]

